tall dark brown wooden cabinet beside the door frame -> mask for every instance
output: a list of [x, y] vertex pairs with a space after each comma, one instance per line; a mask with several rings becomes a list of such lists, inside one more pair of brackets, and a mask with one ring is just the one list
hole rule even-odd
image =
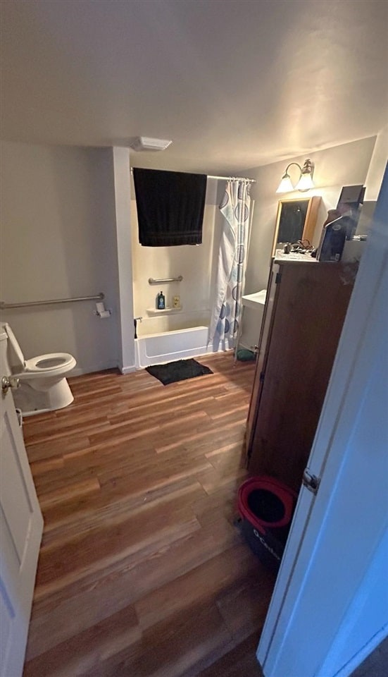
[[275, 256], [246, 431], [251, 475], [299, 491], [355, 277], [356, 264]]

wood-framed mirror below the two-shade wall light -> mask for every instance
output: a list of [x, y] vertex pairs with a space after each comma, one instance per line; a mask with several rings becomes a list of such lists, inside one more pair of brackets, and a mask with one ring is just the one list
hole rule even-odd
[[287, 242], [308, 240], [313, 244], [320, 197], [303, 197], [295, 200], [279, 200], [272, 255]]

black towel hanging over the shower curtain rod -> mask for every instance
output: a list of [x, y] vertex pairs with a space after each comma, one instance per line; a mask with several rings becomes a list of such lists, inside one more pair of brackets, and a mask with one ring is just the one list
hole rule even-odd
[[133, 180], [141, 245], [201, 244], [206, 174], [134, 167]]

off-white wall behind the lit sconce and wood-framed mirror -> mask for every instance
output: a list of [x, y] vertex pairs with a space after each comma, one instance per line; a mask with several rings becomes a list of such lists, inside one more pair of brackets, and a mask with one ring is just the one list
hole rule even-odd
[[[315, 153], [305, 153], [303, 156], [289, 158], [287, 161], [275, 162], [244, 172], [245, 176], [256, 179], [256, 184], [251, 191], [252, 197], [256, 200], [256, 207], [246, 269], [246, 294], [260, 291], [267, 286], [278, 200], [280, 198], [287, 200], [287, 197], [291, 199], [302, 195], [295, 192], [282, 195], [275, 193], [287, 164], [298, 162], [303, 165], [306, 157], [310, 157], [315, 162], [315, 189], [303, 193], [303, 197], [313, 195], [322, 197], [313, 242], [314, 245], [318, 245], [327, 210], [337, 206], [342, 186], [365, 183], [375, 141], [376, 137], [370, 137]], [[291, 168], [291, 174], [292, 169], [296, 169], [298, 173], [297, 168]], [[292, 178], [294, 178], [293, 174]], [[257, 343], [259, 331], [260, 326], [258, 326], [254, 312], [244, 311], [242, 344], [250, 347]]]

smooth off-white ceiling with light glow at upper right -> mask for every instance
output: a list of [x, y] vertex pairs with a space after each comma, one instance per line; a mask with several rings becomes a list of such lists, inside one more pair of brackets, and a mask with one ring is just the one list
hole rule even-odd
[[387, 123], [386, 0], [2, 0], [1, 138], [236, 173]]

